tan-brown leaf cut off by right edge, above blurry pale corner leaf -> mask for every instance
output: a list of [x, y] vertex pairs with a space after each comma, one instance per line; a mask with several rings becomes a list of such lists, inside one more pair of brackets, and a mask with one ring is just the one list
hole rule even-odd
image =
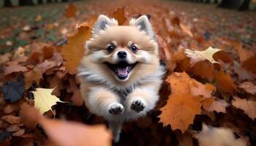
[[232, 101], [234, 107], [244, 110], [246, 115], [248, 115], [249, 118], [252, 118], [252, 120], [256, 118], [256, 101], [240, 99], [236, 96], [234, 96], [234, 99], [235, 100]]

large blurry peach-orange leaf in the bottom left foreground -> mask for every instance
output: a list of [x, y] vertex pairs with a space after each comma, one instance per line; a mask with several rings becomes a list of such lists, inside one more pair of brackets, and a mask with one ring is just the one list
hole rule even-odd
[[21, 117], [26, 120], [26, 124], [39, 123], [49, 139], [57, 145], [111, 145], [111, 133], [104, 125], [87, 126], [74, 121], [48, 119], [28, 104], [23, 104], [21, 111]]

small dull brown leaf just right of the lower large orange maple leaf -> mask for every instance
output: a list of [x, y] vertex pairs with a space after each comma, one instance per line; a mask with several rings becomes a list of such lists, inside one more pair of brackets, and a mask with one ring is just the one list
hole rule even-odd
[[226, 107], [229, 106], [225, 100], [213, 101], [209, 107], [204, 107], [208, 112], [223, 112], [226, 113]]

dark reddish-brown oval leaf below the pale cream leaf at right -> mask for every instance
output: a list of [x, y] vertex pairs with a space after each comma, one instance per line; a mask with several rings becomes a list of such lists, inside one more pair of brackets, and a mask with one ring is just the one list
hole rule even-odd
[[216, 72], [215, 80], [217, 80], [220, 87], [227, 93], [232, 94], [236, 90], [236, 85], [231, 80], [230, 74], [225, 74], [223, 71]]

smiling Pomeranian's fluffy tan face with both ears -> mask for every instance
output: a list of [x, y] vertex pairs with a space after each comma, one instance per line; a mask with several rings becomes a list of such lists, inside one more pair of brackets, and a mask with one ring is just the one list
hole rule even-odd
[[158, 47], [146, 15], [130, 20], [129, 26], [118, 26], [116, 20], [100, 15], [86, 42], [83, 66], [120, 84], [135, 82], [157, 70]]

